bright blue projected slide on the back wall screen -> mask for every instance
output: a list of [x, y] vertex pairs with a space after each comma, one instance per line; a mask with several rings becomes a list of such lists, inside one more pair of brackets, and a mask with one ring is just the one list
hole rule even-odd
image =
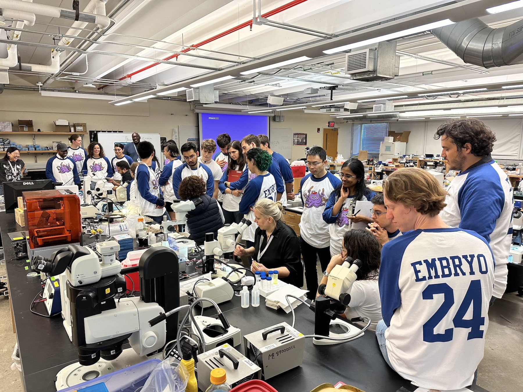
[[213, 139], [220, 133], [228, 133], [231, 140], [242, 140], [245, 135], [269, 134], [267, 116], [246, 116], [242, 114], [199, 113], [201, 140]]

